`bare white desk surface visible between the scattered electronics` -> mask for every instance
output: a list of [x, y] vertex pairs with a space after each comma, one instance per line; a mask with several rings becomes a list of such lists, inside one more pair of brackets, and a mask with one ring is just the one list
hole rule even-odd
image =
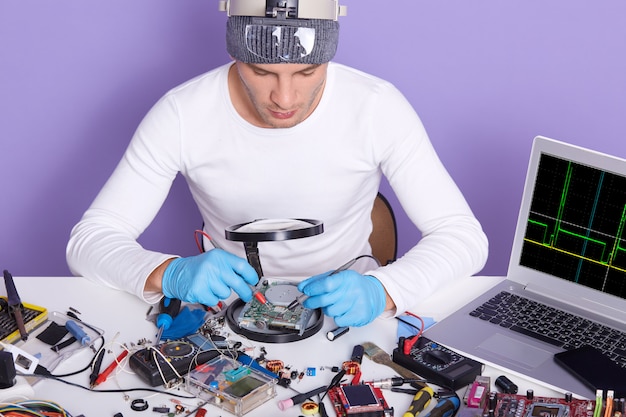
[[[433, 317], [440, 320], [451, 312], [455, 311], [465, 302], [471, 300], [485, 289], [493, 286], [501, 278], [499, 277], [472, 277], [460, 280], [453, 286], [444, 288], [433, 297], [425, 301], [415, 314], [424, 317]], [[48, 311], [58, 311], [66, 313], [69, 307], [80, 312], [79, 317], [92, 325], [105, 330], [107, 342], [114, 338], [117, 342], [133, 344], [141, 338], [151, 339], [155, 334], [153, 323], [145, 320], [149, 306], [139, 299], [121, 291], [105, 288], [78, 277], [16, 277], [15, 283], [23, 302], [46, 307]], [[316, 368], [316, 376], [305, 376], [300, 382], [293, 381], [292, 385], [300, 392], [306, 392], [326, 385], [332, 376], [331, 371], [322, 371], [321, 366], [340, 365], [348, 360], [352, 349], [357, 344], [370, 341], [388, 353], [391, 353], [396, 345], [397, 321], [395, 319], [376, 320], [374, 323], [361, 327], [352, 328], [350, 331], [331, 342], [326, 339], [328, 330], [334, 328], [334, 322], [326, 319], [322, 330], [314, 336], [292, 343], [272, 344], [246, 341], [245, 345], [256, 345], [257, 350], [250, 356], [258, 355], [259, 348], [265, 347], [268, 359], [281, 359], [285, 364], [291, 365], [292, 369], [305, 370], [307, 367]], [[233, 334], [233, 338], [240, 337]], [[117, 335], [117, 336], [116, 336]], [[119, 346], [113, 346], [113, 353], [107, 354], [103, 361], [102, 369], [107, 366], [114, 357], [121, 351]], [[57, 367], [53, 373], [60, 374], [72, 370], [80, 369], [92, 358], [92, 352], [88, 349], [72, 356], [63, 364]], [[362, 364], [361, 380], [373, 380], [395, 376], [392, 369], [378, 365], [364, 357]], [[513, 377], [501, 370], [485, 369], [483, 375], [490, 376], [493, 381], [499, 375], [507, 375], [519, 386], [520, 392], [525, 392], [532, 388], [536, 395], [541, 396], [562, 396], [560, 393], [548, 390], [524, 381], [519, 377]], [[88, 385], [89, 372], [68, 378], [84, 386]], [[118, 372], [111, 376], [105, 383], [98, 386], [98, 389], [118, 389], [146, 387], [146, 384], [132, 374], [128, 366], [121, 367]], [[276, 405], [278, 400], [290, 398], [295, 393], [291, 390], [277, 387], [276, 398], [266, 402], [262, 406], [247, 413], [246, 416], [299, 416], [301, 410], [298, 406], [285, 411], [280, 411]], [[494, 387], [492, 386], [492, 389]], [[188, 395], [182, 390], [175, 391], [181, 395]], [[154, 394], [150, 392], [128, 392], [130, 400], [144, 398], [148, 404], [147, 411], [139, 412], [130, 409], [130, 401], [124, 399], [122, 393], [99, 393], [82, 390], [80, 388], [68, 386], [58, 381], [43, 380], [35, 384], [35, 394], [37, 399], [51, 400], [65, 407], [72, 415], [84, 414], [86, 417], [93, 416], [113, 416], [121, 412], [124, 416], [150, 416], [157, 415], [152, 411], [153, 407], [167, 406], [174, 408], [174, 403], [170, 400], [174, 397], [168, 394]], [[407, 394], [384, 391], [385, 398], [390, 406], [395, 409], [396, 415], [402, 415], [408, 408], [412, 397]], [[182, 400], [191, 409], [198, 404], [197, 399]], [[207, 416], [229, 416], [230, 413], [213, 405], [205, 406]], [[327, 411], [330, 416], [334, 416], [334, 410], [327, 404]]]

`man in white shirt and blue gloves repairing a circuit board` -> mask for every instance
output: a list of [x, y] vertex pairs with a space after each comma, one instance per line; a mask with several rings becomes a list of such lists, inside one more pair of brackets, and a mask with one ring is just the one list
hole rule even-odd
[[[335, 0], [294, 3], [225, 3], [234, 62], [174, 88], [146, 115], [72, 230], [73, 273], [150, 303], [165, 295], [215, 305], [231, 290], [248, 301], [258, 274], [225, 229], [319, 219], [321, 234], [259, 243], [265, 276], [314, 275], [298, 286], [309, 296], [304, 305], [323, 308], [339, 326], [362, 326], [482, 268], [487, 239], [410, 104], [391, 84], [330, 62], [341, 12]], [[183, 258], [137, 243], [178, 173], [223, 250]], [[390, 265], [357, 262], [330, 274], [371, 253], [381, 175], [421, 241]]]

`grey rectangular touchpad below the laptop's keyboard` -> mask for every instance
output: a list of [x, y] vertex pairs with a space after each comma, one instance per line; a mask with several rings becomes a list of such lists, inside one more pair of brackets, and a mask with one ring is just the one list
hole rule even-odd
[[552, 360], [553, 352], [540, 349], [511, 337], [496, 333], [485, 339], [476, 347], [477, 350], [485, 352], [489, 356], [485, 360], [499, 358], [518, 366], [534, 369], [543, 364], [546, 360]]

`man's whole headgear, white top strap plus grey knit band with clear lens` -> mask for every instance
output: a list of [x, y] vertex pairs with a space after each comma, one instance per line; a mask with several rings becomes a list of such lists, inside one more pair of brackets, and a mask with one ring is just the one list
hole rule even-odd
[[222, 0], [228, 13], [226, 49], [252, 64], [323, 64], [337, 51], [337, 0]]

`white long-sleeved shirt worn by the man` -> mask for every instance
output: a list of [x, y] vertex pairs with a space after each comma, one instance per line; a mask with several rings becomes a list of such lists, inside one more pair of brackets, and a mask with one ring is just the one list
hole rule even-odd
[[137, 238], [178, 173], [202, 215], [198, 224], [204, 221], [219, 246], [242, 257], [243, 244], [224, 237], [228, 226], [261, 218], [324, 223], [317, 236], [260, 242], [266, 277], [303, 279], [371, 253], [370, 213], [381, 175], [422, 234], [396, 262], [361, 271], [382, 282], [398, 314], [483, 267], [486, 236], [394, 86], [331, 63], [315, 111], [292, 128], [267, 129], [233, 107], [229, 66], [174, 88], [148, 112], [72, 230], [72, 273], [156, 302], [160, 294], [145, 293], [145, 281], [175, 254], [143, 248]]

